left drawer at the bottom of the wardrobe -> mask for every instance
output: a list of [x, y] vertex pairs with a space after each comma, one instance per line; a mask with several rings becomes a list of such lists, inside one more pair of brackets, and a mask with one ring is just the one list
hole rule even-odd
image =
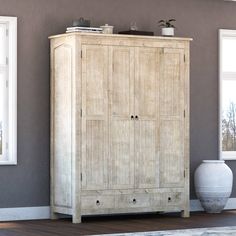
[[83, 196], [81, 198], [82, 209], [107, 209], [114, 208], [114, 196]]

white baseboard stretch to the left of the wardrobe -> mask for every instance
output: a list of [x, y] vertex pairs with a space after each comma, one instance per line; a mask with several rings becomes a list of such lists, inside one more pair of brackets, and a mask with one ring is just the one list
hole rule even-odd
[[40, 220], [50, 218], [50, 207], [0, 208], [0, 221]]

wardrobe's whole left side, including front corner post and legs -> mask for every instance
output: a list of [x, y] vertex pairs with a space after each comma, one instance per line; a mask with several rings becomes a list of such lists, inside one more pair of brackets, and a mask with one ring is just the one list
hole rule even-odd
[[[75, 37], [51, 40], [51, 218], [56, 213], [73, 215], [73, 222], [81, 222], [80, 160], [76, 153], [80, 136], [81, 99], [76, 56], [79, 44]], [[78, 65], [78, 68], [75, 67]], [[81, 95], [80, 95], [81, 97]]]

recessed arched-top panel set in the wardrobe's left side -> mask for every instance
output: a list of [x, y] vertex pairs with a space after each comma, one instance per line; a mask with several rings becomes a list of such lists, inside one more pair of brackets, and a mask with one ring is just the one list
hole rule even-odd
[[53, 179], [54, 205], [72, 207], [72, 48], [62, 44], [53, 49]]

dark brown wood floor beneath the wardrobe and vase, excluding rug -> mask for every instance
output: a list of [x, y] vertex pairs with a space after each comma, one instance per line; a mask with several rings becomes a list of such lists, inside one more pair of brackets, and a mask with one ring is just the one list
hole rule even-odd
[[85, 217], [82, 224], [72, 224], [70, 219], [3, 222], [0, 236], [77, 236], [221, 226], [236, 226], [236, 211], [192, 213], [186, 219], [179, 214]]

